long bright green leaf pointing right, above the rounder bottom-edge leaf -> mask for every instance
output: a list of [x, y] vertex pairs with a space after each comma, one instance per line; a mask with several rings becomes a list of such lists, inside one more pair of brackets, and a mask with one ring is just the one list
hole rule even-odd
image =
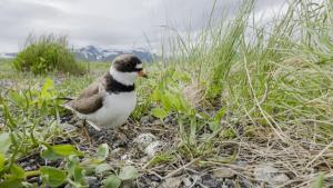
[[41, 157], [49, 160], [57, 160], [72, 155], [83, 156], [83, 152], [78, 151], [72, 145], [47, 146], [47, 149], [41, 152]]

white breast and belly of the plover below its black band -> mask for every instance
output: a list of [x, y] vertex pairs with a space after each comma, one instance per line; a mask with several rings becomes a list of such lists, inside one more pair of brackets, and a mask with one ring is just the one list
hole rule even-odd
[[115, 128], [121, 126], [129, 118], [137, 105], [135, 91], [107, 93], [103, 107], [91, 115], [84, 115], [84, 119], [90, 120], [101, 128]]

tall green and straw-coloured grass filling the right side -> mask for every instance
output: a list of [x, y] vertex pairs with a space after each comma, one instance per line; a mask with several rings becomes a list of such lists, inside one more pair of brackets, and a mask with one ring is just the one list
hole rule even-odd
[[327, 141], [333, 2], [290, 2], [270, 27], [252, 20], [254, 4], [244, 1], [233, 18], [203, 29], [194, 40], [179, 33], [170, 39], [175, 53], [169, 67], [191, 77], [180, 87], [198, 82], [211, 106], [225, 108], [244, 126], [268, 128], [286, 142], [297, 135], [292, 129], [303, 129], [309, 139], [313, 135], [305, 130], [316, 129], [317, 139]]

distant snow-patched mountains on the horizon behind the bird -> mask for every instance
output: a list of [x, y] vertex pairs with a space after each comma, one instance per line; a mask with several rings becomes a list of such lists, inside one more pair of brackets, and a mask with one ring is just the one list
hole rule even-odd
[[[151, 62], [154, 58], [154, 55], [149, 50], [143, 48], [137, 49], [101, 49], [94, 46], [87, 46], [80, 49], [73, 50], [74, 56], [79, 60], [88, 61], [112, 61], [119, 55], [131, 53], [138, 56], [142, 61]], [[0, 59], [11, 59], [14, 58], [17, 52], [0, 52]]]

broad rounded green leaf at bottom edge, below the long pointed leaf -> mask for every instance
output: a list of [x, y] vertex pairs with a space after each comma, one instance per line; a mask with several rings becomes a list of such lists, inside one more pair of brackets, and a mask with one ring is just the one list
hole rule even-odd
[[67, 180], [65, 171], [53, 167], [41, 167], [40, 172], [42, 181], [50, 187], [59, 187]]

